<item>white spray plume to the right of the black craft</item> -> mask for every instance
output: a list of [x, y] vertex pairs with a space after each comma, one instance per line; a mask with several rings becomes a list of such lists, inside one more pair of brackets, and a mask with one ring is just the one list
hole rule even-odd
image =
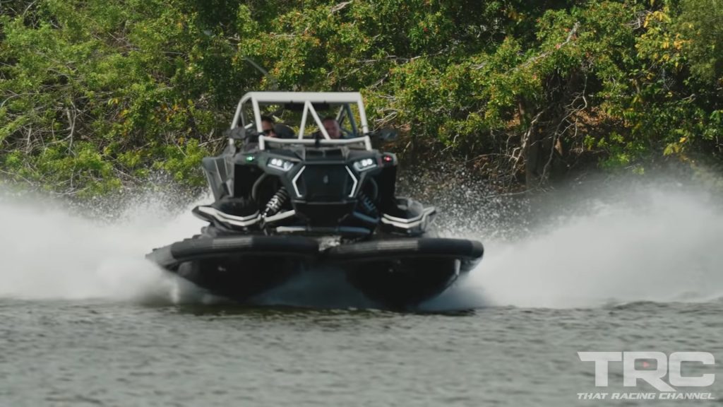
[[723, 296], [723, 211], [706, 193], [644, 188], [550, 219], [517, 241], [485, 240], [466, 281], [427, 304], [590, 307]]

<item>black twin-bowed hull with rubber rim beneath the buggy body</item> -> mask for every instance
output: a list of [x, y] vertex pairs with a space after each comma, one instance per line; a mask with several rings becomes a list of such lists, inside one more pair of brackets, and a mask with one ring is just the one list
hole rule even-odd
[[304, 269], [324, 267], [345, 273], [367, 298], [398, 309], [442, 293], [479, 263], [483, 251], [481, 243], [461, 239], [370, 240], [320, 250], [317, 240], [299, 236], [200, 235], [155, 249], [147, 259], [241, 302]]

